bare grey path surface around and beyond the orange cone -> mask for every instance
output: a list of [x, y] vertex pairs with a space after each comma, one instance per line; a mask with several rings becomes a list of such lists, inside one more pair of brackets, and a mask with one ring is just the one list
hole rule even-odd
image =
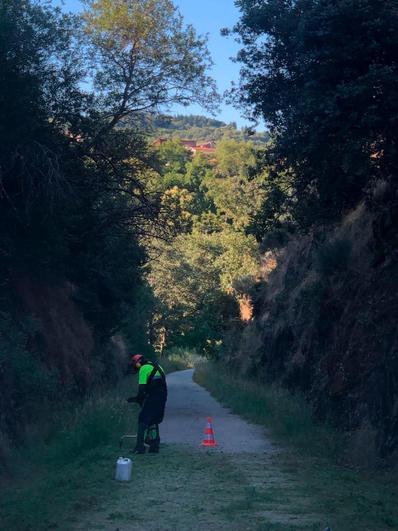
[[193, 370], [167, 376], [169, 390], [166, 414], [160, 426], [164, 443], [200, 448], [207, 417], [212, 417], [217, 448], [226, 453], [271, 453], [273, 447], [264, 429], [249, 424], [222, 407], [192, 380]]

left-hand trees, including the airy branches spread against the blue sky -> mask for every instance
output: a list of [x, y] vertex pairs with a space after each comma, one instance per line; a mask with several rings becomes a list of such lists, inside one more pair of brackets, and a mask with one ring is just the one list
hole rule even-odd
[[[175, 233], [190, 191], [153, 185], [162, 161], [137, 124], [172, 102], [211, 108], [209, 64], [169, 0], [87, 2], [82, 16], [0, 0], [0, 430], [14, 436], [40, 400], [115, 377], [116, 333], [149, 349], [143, 240]], [[67, 324], [32, 319], [22, 284], [64, 294], [89, 353], [76, 345], [68, 361]]]

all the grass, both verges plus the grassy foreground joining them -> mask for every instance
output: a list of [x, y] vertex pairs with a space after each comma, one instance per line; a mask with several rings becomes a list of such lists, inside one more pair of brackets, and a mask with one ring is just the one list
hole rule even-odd
[[[125, 402], [134, 393], [128, 378], [65, 412], [51, 436], [14, 455], [15, 477], [1, 488], [0, 529], [109, 530], [130, 522], [182, 530], [208, 523], [228, 531], [398, 529], [394, 478], [338, 465], [331, 429], [319, 430], [305, 404], [223, 376], [220, 368], [201, 367], [197, 378], [224, 404], [266, 426], [282, 451], [228, 455], [166, 445], [160, 455], [136, 456], [133, 480], [118, 483], [116, 459], [128, 455], [119, 438], [135, 432], [138, 412]], [[156, 505], [155, 521], [135, 503], [143, 495]]]

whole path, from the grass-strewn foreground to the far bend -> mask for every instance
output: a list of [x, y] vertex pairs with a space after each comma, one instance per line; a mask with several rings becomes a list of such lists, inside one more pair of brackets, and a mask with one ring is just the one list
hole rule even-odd
[[[302, 494], [297, 473], [277, 463], [261, 427], [222, 407], [192, 381], [192, 370], [168, 375], [169, 399], [160, 454], [131, 456], [129, 483], [112, 478], [95, 510], [70, 515], [65, 529], [87, 531], [319, 530], [322, 518]], [[208, 416], [217, 448], [201, 447]], [[62, 527], [62, 526], [61, 526]]]

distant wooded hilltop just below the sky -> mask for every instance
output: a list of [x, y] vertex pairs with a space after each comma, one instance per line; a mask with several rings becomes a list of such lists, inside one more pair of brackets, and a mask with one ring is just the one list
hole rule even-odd
[[224, 136], [236, 140], [251, 140], [255, 144], [263, 144], [269, 140], [266, 132], [249, 134], [247, 128], [238, 129], [235, 122], [226, 124], [220, 120], [193, 114], [158, 116], [153, 119], [151, 129], [154, 137], [179, 137], [198, 142], [217, 142]]

